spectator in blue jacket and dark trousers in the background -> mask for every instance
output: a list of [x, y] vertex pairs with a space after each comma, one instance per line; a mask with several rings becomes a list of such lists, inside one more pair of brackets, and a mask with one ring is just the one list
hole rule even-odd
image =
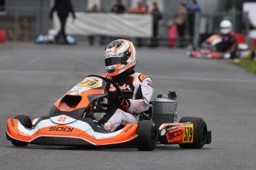
[[187, 6], [188, 11], [188, 33], [191, 37], [194, 36], [194, 17], [195, 13], [200, 12], [201, 7], [197, 1], [193, 1], [192, 4]]

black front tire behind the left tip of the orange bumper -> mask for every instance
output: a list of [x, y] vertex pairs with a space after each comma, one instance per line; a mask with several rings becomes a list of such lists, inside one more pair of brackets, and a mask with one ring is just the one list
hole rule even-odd
[[[15, 119], [18, 119], [20, 123], [22, 123], [22, 125], [28, 129], [32, 128], [32, 121], [30, 119], [30, 117], [26, 116], [26, 115], [17, 115], [15, 117]], [[20, 140], [15, 140], [15, 139], [11, 139], [11, 142], [13, 143], [14, 146], [27, 146], [27, 142], [23, 142]]]

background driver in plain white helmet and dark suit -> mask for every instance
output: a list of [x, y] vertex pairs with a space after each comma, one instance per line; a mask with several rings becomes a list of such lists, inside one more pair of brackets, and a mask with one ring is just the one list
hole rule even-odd
[[222, 41], [216, 44], [216, 50], [219, 52], [226, 52], [229, 56], [225, 58], [234, 58], [236, 51], [236, 38], [232, 33], [232, 22], [223, 20], [220, 22], [220, 36]]

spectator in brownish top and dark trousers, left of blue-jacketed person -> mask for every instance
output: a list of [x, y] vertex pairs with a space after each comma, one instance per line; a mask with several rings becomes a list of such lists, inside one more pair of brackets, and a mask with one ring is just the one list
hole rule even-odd
[[187, 19], [186, 4], [181, 3], [179, 7], [179, 11], [175, 15], [175, 19], [174, 19], [175, 24], [177, 26], [177, 30], [178, 30], [178, 35], [179, 35], [178, 47], [184, 47], [186, 19]]

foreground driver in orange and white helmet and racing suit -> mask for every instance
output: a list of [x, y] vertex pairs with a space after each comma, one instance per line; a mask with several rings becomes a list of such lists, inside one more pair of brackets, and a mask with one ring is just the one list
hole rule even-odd
[[116, 95], [116, 88], [109, 87], [107, 114], [99, 120], [99, 125], [109, 132], [113, 132], [120, 125], [137, 123], [139, 113], [149, 108], [149, 101], [154, 88], [151, 78], [134, 71], [137, 56], [131, 41], [117, 39], [105, 48], [105, 68], [108, 73], [102, 77], [110, 78], [118, 84], [121, 96]]

